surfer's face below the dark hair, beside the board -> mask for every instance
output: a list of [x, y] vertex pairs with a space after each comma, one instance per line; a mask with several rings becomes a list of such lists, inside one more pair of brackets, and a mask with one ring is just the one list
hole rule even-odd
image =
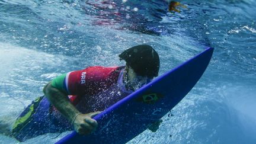
[[133, 90], [137, 90], [143, 85], [148, 84], [152, 81], [152, 78], [148, 78], [147, 76], [140, 76], [137, 75], [135, 71], [133, 71], [132, 68], [129, 67], [127, 72], [127, 80], [129, 81], [130, 87], [133, 88]]

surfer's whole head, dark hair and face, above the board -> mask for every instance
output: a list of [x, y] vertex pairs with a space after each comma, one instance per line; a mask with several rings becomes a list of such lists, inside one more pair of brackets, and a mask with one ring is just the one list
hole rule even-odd
[[158, 76], [159, 56], [149, 45], [142, 44], [131, 47], [119, 55], [120, 60], [126, 61], [125, 81], [126, 85], [136, 90], [142, 85], [148, 84], [153, 77]]

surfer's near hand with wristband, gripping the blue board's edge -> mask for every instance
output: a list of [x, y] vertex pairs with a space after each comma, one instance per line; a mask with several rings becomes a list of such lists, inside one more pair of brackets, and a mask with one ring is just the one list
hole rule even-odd
[[97, 129], [98, 123], [96, 120], [91, 119], [91, 117], [94, 117], [99, 113], [101, 113], [101, 111], [88, 114], [79, 114], [73, 121], [73, 128], [80, 135], [88, 135], [94, 132]]

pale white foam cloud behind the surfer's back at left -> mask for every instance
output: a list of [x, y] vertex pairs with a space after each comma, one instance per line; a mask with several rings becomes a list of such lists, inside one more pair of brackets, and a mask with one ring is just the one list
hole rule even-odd
[[64, 73], [66, 62], [71, 60], [0, 42], [0, 117], [20, 113], [32, 100], [43, 95], [43, 86]]

